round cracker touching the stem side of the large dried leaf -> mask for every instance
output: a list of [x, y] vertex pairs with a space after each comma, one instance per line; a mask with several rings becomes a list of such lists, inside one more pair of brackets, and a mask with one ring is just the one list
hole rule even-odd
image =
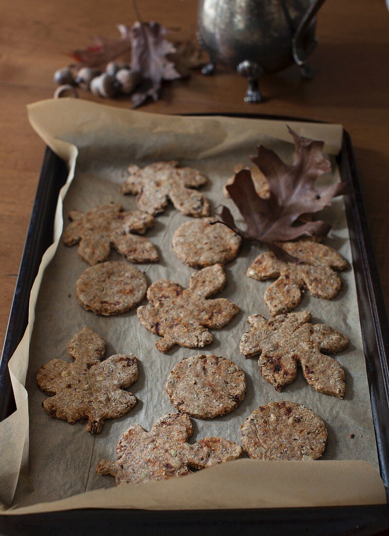
[[173, 235], [179, 260], [192, 268], [228, 263], [239, 251], [242, 239], [225, 225], [210, 225], [214, 218], [187, 221]]

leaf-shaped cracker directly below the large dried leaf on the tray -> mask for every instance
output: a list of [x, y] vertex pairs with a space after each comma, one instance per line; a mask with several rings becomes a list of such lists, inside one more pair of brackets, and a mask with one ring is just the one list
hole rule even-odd
[[337, 251], [304, 239], [282, 242], [279, 246], [300, 263], [279, 260], [269, 251], [258, 255], [247, 271], [249, 277], [259, 281], [278, 278], [264, 294], [273, 316], [294, 309], [301, 302], [302, 288], [308, 288], [312, 296], [324, 300], [331, 300], [339, 293], [342, 282], [333, 269], [346, 269], [347, 260]]

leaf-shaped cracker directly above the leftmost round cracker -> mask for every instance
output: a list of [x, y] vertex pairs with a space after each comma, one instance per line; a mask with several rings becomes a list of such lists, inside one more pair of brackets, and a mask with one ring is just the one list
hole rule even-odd
[[148, 239], [132, 233], [145, 233], [154, 218], [133, 210], [124, 212], [119, 203], [96, 206], [86, 214], [72, 210], [72, 220], [63, 233], [65, 245], [79, 244], [81, 259], [94, 265], [107, 260], [111, 248], [132, 263], [158, 262], [158, 253]]

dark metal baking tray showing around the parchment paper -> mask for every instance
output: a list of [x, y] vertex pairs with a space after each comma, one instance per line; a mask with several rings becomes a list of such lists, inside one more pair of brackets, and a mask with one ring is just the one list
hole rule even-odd
[[[306, 121], [296, 117], [251, 114], [224, 115], [251, 119]], [[341, 180], [349, 186], [345, 197], [351, 252], [360, 309], [361, 329], [370, 400], [375, 427], [379, 468], [389, 497], [389, 330], [383, 295], [363, 207], [353, 146], [343, 131], [341, 152], [336, 157]], [[46, 148], [29, 223], [23, 257], [13, 297], [9, 324], [0, 361], [0, 420], [12, 413], [14, 400], [8, 361], [28, 322], [28, 300], [44, 251], [53, 242], [54, 214], [59, 190], [68, 170]], [[331, 508], [282, 508], [246, 510], [104, 510], [83, 509], [18, 516], [0, 516], [2, 534], [378, 534], [389, 528], [389, 505]]]

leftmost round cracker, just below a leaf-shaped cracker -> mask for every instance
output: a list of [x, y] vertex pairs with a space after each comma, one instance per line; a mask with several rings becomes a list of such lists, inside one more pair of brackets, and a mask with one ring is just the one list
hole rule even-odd
[[96, 315], [121, 315], [141, 302], [146, 278], [135, 266], [109, 260], [87, 268], [77, 280], [78, 303]]

